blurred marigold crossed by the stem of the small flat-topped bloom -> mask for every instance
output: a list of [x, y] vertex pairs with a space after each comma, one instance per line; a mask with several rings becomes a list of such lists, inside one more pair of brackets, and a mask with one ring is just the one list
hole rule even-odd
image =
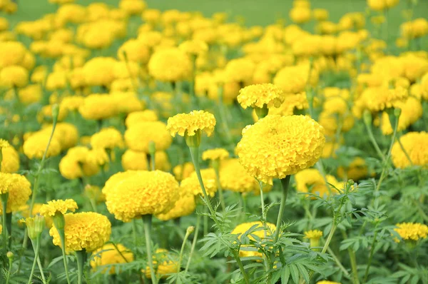
[[[200, 170], [202, 176], [203, 185], [207, 191], [208, 196], [213, 197], [217, 192], [217, 183], [215, 182], [215, 171], [212, 168]], [[194, 196], [203, 195], [202, 188], [198, 181], [196, 173], [190, 173], [188, 178], [183, 179], [180, 183], [180, 191], [186, 191], [192, 193]]]

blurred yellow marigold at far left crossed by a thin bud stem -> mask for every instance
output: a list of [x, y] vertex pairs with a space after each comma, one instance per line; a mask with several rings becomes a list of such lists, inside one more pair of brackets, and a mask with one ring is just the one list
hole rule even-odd
[[[46, 146], [49, 142], [50, 134], [44, 132], [36, 133], [30, 136], [26, 141], [24, 141], [24, 154], [32, 159], [43, 157]], [[46, 158], [57, 156], [61, 152], [61, 143], [52, 137], [51, 143], [49, 144], [48, 151], [46, 152]]]

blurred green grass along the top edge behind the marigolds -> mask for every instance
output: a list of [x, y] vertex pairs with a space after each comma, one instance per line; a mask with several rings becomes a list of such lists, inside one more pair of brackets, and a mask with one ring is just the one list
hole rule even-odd
[[[12, 26], [18, 21], [38, 19], [46, 13], [53, 13], [56, 6], [49, 4], [47, 0], [18, 0], [19, 10], [16, 14], [8, 16]], [[398, 29], [402, 23], [402, 10], [407, 8], [409, 0], [401, 0], [399, 5], [389, 11], [389, 27], [391, 31]], [[78, 0], [78, 4], [90, 4], [93, 0]], [[100, 1], [98, 1], [100, 2]], [[109, 5], [117, 6], [118, 0], [103, 0]], [[292, 6], [292, 0], [147, 0], [150, 8], [161, 10], [178, 9], [180, 11], [201, 11], [205, 16], [218, 11], [230, 14], [230, 19], [235, 16], [244, 16], [248, 26], [275, 23], [280, 17], [288, 20], [288, 11]], [[312, 8], [325, 8], [330, 11], [330, 19], [338, 21], [340, 17], [350, 11], [366, 11], [366, 0], [312, 0]], [[414, 18], [428, 16], [428, 0], [419, 0]], [[287, 21], [290, 23], [290, 21]]]

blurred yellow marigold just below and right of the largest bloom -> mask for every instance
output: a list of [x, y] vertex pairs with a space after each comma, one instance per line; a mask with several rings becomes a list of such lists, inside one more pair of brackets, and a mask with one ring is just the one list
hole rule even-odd
[[[334, 176], [327, 175], [326, 178], [328, 183], [341, 189], [339, 182]], [[331, 194], [337, 193], [337, 190], [333, 186], [327, 186], [321, 173], [315, 168], [307, 168], [296, 173], [295, 181], [297, 191], [300, 193], [312, 193], [322, 198], [330, 196], [330, 191]]]

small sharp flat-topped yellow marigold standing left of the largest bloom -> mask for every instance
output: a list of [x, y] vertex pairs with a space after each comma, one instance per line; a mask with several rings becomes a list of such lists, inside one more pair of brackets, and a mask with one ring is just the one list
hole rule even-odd
[[190, 111], [190, 113], [179, 113], [168, 118], [166, 128], [171, 135], [194, 136], [199, 131], [205, 131], [208, 136], [214, 131], [215, 117], [207, 111]]

